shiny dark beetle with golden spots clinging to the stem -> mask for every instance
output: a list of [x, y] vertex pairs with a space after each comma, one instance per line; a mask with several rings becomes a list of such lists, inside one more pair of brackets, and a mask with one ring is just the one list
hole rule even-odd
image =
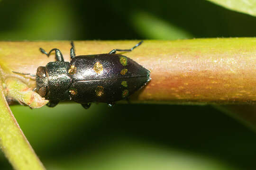
[[36, 76], [36, 92], [49, 100], [49, 107], [65, 100], [81, 103], [85, 109], [91, 106], [91, 102], [105, 102], [112, 106], [114, 102], [128, 99], [151, 79], [149, 70], [124, 55], [116, 54], [117, 51], [132, 51], [142, 42], [131, 49], [80, 56], [75, 56], [71, 42], [70, 62], [64, 61], [59, 49], [47, 53], [40, 48], [48, 57], [55, 51], [56, 61], [38, 67], [36, 75], [20, 74]]

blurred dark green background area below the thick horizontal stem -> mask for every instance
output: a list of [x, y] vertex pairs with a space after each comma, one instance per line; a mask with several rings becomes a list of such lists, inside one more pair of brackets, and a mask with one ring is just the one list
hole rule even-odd
[[[255, 166], [250, 157], [256, 153], [254, 133], [210, 106], [122, 104], [111, 109], [93, 104], [84, 110], [80, 104], [59, 104], [11, 109], [49, 170]], [[0, 164], [8, 170], [3, 157]]]

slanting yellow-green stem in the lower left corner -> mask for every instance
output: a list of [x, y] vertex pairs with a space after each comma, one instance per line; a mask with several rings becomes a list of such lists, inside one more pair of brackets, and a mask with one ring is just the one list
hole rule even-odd
[[45, 170], [13, 116], [0, 85], [0, 147], [15, 170]]

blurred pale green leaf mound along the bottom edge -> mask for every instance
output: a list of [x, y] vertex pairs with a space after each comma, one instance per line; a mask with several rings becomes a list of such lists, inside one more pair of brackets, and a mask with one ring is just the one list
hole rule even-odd
[[46, 167], [49, 170], [237, 170], [206, 155], [127, 139], [100, 146], [91, 154], [85, 150], [84, 154], [68, 156], [59, 162], [46, 162]]

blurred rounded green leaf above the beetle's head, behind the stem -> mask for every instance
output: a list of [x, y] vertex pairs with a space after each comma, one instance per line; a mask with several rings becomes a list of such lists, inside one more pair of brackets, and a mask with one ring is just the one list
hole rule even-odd
[[0, 32], [1, 40], [66, 40], [77, 34], [79, 27], [72, 8], [64, 1], [31, 2], [33, 8], [20, 13], [17, 26]]

